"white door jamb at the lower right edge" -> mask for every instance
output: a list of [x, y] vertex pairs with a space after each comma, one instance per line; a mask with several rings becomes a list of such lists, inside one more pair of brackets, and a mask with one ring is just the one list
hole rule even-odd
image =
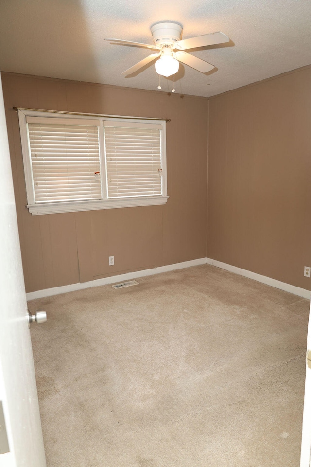
[[[311, 308], [310, 308], [310, 312], [311, 312]], [[300, 467], [310, 467], [311, 465], [310, 453], [311, 453], [311, 314], [309, 313], [308, 336], [307, 336], [307, 357], [306, 357], [305, 402], [303, 406]]]

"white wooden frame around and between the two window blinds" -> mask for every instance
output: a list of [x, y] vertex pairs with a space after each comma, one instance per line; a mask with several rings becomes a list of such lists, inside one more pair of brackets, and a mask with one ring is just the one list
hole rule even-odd
[[[34, 192], [34, 178], [32, 173], [31, 151], [28, 135], [28, 126], [26, 117], [42, 117], [42, 118], [61, 118], [70, 120], [99, 120], [99, 153], [101, 165], [101, 187], [102, 198], [96, 200], [85, 201], [60, 201], [60, 202], [47, 202], [36, 203]], [[32, 215], [39, 214], [55, 214], [55, 213], [69, 213], [77, 211], [91, 211], [98, 209], [114, 209], [135, 206], [152, 206], [163, 205], [168, 200], [167, 195], [167, 172], [166, 172], [166, 121], [161, 119], [147, 119], [136, 117], [119, 117], [119, 116], [104, 116], [99, 114], [76, 114], [74, 112], [53, 112], [42, 110], [30, 110], [18, 108], [19, 129], [21, 137], [22, 156], [24, 163], [24, 174], [26, 182], [27, 205], [29, 212]], [[107, 166], [105, 157], [105, 142], [104, 142], [104, 121], [122, 121], [127, 123], [141, 124], [142, 127], [146, 124], [154, 123], [161, 124], [160, 129], [160, 143], [161, 143], [161, 195], [139, 196], [139, 197], [122, 197], [122, 198], [108, 198], [107, 189]], [[55, 122], [56, 123], [56, 122]]]

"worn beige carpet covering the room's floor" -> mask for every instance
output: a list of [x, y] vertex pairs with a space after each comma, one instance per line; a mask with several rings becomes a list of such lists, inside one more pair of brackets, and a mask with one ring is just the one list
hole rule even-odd
[[48, 467], [299, 465], [309, 302], [203, 265], [29, 303]]

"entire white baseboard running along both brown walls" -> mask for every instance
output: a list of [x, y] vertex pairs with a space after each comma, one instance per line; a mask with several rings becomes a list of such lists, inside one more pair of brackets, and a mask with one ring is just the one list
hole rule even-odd
[[75, 290], [82, 290], [84, 288], [104, 286], [107, 284], [114, 284], [116, 282], [128, 281], [136, 279], [138, 277], [152, 276], [154, 274], [160, 274], [161, 272], [173, 271], [176, 269], [190, 268], [191, 266], [199, 266], [201, 264], [210, 264], [217, 268], [225, 269], [229, 272], [235, 274], [240, 274], [241, 276], [248, 277], [254, 281], [261, 282], [271, 287], [279, 288], [285, 292], [293, 293], [299, 297], [306, 298], [310, 300], [311, 291], [304, 288], [295, 287], [291, 284], [286, 284], [285, 282], [277, 281], [271, 277], [262, 276], [256, 272], [251, 272], [246, 269], [237, 268], [236, 266], [231, 266], [230, 264], [222, 263], [211, 258], [199, 258], [192, 261], [184, 261], [182, 263], [169, 264], [167, 266], [159, 266], [158, 268], [145, 269], [142, 271], [128, 272], [126, 274], [119, 274], [117, 276], [104, 277], [103, 279], [96, 279], [89, 282], [79, 282], [77, 284], [69, 284], [67, 286], [46, 288], [44, 290], [37, 290], [35, 292], [26, 293], [27, 300], [35, 300], [36, 298], [49, 297], [52, 295], [59, 295], [61, 293], [73, 292]]

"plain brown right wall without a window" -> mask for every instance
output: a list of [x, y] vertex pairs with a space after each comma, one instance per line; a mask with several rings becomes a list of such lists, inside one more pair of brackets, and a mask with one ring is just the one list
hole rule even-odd
[[311, 67], [209, 100], [207, 256], [311, 289]]

